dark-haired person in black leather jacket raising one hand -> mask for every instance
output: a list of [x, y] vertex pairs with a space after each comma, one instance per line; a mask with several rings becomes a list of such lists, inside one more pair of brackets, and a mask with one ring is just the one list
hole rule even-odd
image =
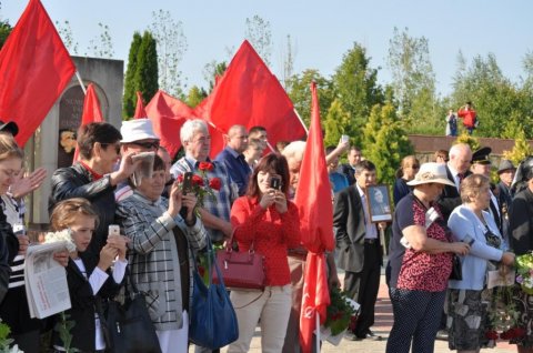
[[[133, 163], [131, 152], [120, 158], [121, 139], [119, 130], [107, 122], [82, 125], [78, 131], [80, 160], [71, 167], [58, 169], [52, 175], [49, 211], [59, 201], [83, 198], [97, 212], [100, 222], [88, 249], [94, 255], [100, 254], [108, 238], [108, 226], [114, 221], [114, 189], [140, 163]], [[120, 165], [114, 171], [118, 161]]]

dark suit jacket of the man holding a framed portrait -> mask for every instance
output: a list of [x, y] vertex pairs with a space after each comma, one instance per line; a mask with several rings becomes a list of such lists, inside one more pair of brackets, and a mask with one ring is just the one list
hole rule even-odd
[[[351, 185], [336, 194], [333, 208], [339, 268], [361, 272], [364, 263], [364, 211], [358, 186]], [[379, 238], [378, 238], [379, 241]]]

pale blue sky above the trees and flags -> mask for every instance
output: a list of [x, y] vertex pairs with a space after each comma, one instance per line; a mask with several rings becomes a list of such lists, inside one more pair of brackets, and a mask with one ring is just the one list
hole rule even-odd
[[[244, 39], [245, 20], [258, 14], [271, 24], [271, 71], [281, 77], [286, 36], [295, 43], [294, 71], [316, 69], [333, 74], [342, 57], [361, 43], [371, 67], [381, 67], [381, 83], [391, 81], [386, 67], [394, 27], [429, 40], [430, 57], [441, 95], [452, 91], [456, 58], [467, 62], [494, 53], [503, 74], [513, 82], [524, 75], [522, 60], [533, 51], [531, 0], [41, 0], [53, 21], [69, 21], [79, 52], [109, 26], [113, 59], [128, 59], [134, 31], [152, 22], [152, 11], [169, 10], [182, 22], [188, 50], [180, 63], [188, 88], [208, 87], [203, 70], [212, 60], [229, 61]], [[1, 1], [0, 17], [14, 24], [26, 0]], [[228, 49], [232, 52], [228, 53]], [[124, 64], [125, 69], [125, 64]]]

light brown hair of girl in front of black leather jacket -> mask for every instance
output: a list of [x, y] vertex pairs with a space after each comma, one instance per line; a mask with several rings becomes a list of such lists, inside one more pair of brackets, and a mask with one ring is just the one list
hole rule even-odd
[[53, 208], [50, 215], [50, 226], [53, 232], [62, 231], [70, 228], [79, 214], [92, 216], [98, 225], [98, 214], [87, 199], [73, 198], [59, 202]]

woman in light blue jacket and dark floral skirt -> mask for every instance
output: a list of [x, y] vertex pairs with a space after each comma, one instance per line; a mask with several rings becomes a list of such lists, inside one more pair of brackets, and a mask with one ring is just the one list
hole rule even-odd
[[[489, 209], [491, 202], [490, 181], [481, 174], [472, 174], [461, 183], [463, 204], [453, 210], [447, 225], [456, 241], [471, 245], [470, 253], [462, 259], [462, 281], [449, 283], [449, 346], [457, 352], [479, 352], [486, 346], [486, 307], [482, 304], [482, 292], [489, 262], [504, 265], [514, 263], [514, 254], [506, 252], [500, 231]], [[467, 311], [462, 311], [466, 307]], [[470, 317], [481, 317], [472, 323]], [[451, 319], [451, 320], [450, 320]]]

